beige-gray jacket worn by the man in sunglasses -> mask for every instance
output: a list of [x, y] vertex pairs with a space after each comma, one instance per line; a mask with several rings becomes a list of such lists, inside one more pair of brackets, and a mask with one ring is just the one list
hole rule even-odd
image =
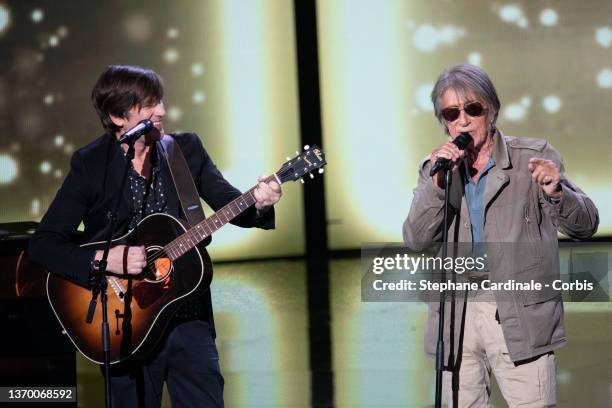
[[[546, 158], [561, 171], [563, 198], [550, 202], [541, 188], [531, 179], [527, 167], [532, 157]], [[557, 230], [572, 239], [585, 239], [597, 230], [599, 216], [593, 202], [565, 176], [561, 156], [548, 142], [541, 139], [495, 135], [493, 147], [495, 166], [486, 179], [484, 204], [484, 236], [487, 243], [520, 243], [520, 250], [498, 246], [497, 256], [489, 258], [492, 281], [545, 279], [558, 275], [559, 256]], [[429, 177], [431, 162], [426, 158], [419, 170], [418, 185], [408, 218], [404, 222], [404, 241], [418, 251], [431, 242], [441, 241], [444, 191]], [[450, 194], [452, 224], [449, 241], [471, 242], [472, 231], [465, 199], [462, 174], [456, 171]], [[488, 248], [490, 252], [490, 248]], [[495, 252], [495, 251], [493, 251]], [[542, 290], [516, 293], [511, 300], [500, 301], [496, 293], [499, 318], [510, 357], [520, 361], [566, 343], [563, 326], [563, 303], [558, 292]], [[463, 301], [456, 303], [455, 327], [461, 327]], [[425, 351], [434, 356], [438, 329], [438, 304], [429, 304], [425, 330]], [[449, 344], [457, 356], [459, 331], [450, 342], [450, 305], [445, 320], [445, 362]], [[450, 363], [450, 362], [449, 362]]]

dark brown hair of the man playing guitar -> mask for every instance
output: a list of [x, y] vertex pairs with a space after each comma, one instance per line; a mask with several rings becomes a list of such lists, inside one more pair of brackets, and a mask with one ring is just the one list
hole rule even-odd
[[91, 91], [91, 101], [109, 132], [120, 128], [110, 115], [127, 118], [133, 107], [159, 103], [164, 96], [164, 83], [153, 70], [132, 65], [109, 65]]

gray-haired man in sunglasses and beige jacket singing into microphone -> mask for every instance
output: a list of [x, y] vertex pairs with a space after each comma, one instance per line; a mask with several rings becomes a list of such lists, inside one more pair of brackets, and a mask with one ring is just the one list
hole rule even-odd
[[[447, 141], [421, 164], [403, 226], [406, 244], [419, 250], [442, 239], [444, 175], [430, 177], [429, 172], [443, 158], [450, 161], [453, 178], [449, 241], [544, 248], [512, 262], [489, 262], [481, 279], [505, 281], [520, 273], [538, 281], [555, 268], [558, 272], [557, 231], [585, 239], [599, 223], [593, 202], [568, 180], [560, 154], [545, 140], [506, 136], [497, 129], [499, 98], [479, 67], [455, 65], [444, 71], [431, 99], [451, 141], [465, 132], [472, 142], [460, 150]], [[452, 342], [446, 314], [443, 388], [449, 406], [491, 406], [491, 372], [510, 407], [555, 406], [553, 350], [567, 341], [560, 295], [542, 291], [501, 301], [497, 294], [479, 292], [475, 297], [455, 304]], [[429, 305], [425, 348], [430, 356], [436, 353], [438, 312], [438, 304]]]

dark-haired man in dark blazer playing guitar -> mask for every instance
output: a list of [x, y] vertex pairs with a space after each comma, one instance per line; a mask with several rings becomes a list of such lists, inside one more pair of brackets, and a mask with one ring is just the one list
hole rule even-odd
[[[151, 120], [154, 129], [135, 143], [113, 237], [134, 230], [152, 214], [183, 217], [168, 162], [160, 153], [166, 113], [163, 94], [161, 78], [150, 69], [112, 65], [98, 79], [92, 102], [106, 133], [74, 153], [70, 172], [30, 242], [30, 256], [52, 275], [73, 282], [75, 287], [89, 287], [93, 261], [102, 257], [102, 251], [94, 246], [77, 245], [71, 235], [82, 222], [85, 242], [104, 239], [107, 213], [115, 203], [126, 161], [126, 148], [117, 139], [144, 119]], [[173, 138], [186, 159], [198, 195], [211, 208], [216, 211], [241, 196], [223, 178], [196, 134], [175, 134]], [[241, 227], [274, 228], [272, 206], [281, 194], [275, 179], [261, 177], [252, 190], [254, 206], [245, 206], [231, 222]], [[109, 252], [107, 271], [133, 277], [137, 285], [147, 268], [148, 256], [151, 257], [144, 245], [130, 242], [114, 245]], [[110, 284], [109, 293], [111, 287], [124, 301], [122, 289]], [[146, 306], [143, 299], [135, 298], [134, 308]], [[223, 406], [224, 382], [214, 340], [210, 290], [207, 287], [194, 290], [176, 300], [169, 323], [160, 332], [163, 334], [152, 351], [113, 364], [111, 384], [117, 406], [159, 407], [164, 381], [173, 406]], [[65, 302], [68, 312], [70, 302], [74, 299]], [[109, 308], [109, 316], [113, 313], [117, 312]], [[113, 329], [111, 323], [111, 332]], [[132, 329], [138, 329], [137, 321]], [[99, 342], [99, 337], [95, 341]]]

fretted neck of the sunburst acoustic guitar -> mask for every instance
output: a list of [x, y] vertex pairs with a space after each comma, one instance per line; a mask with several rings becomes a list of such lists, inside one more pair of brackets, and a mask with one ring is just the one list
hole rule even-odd
[[[265, 182], [276, 180], [280, 184], [276, 174], [267, 177]], [[242, 194], [240, 197], [230, 201], [223, 208], [212, 214], [210, 217], [194, 225], [184, 234], [180, 235], [173, 241], [169, 242], [164, 247], [164, 252], [171, 260], [175, 260], [193, 249], [197, 244], [211, 236], [215, 231], [219, 230], [225, 224], [232, 221], [234, 218], [245, 212], [257, 201], [255, 199], [255, 189], [253, 186], [250, 190]]]

